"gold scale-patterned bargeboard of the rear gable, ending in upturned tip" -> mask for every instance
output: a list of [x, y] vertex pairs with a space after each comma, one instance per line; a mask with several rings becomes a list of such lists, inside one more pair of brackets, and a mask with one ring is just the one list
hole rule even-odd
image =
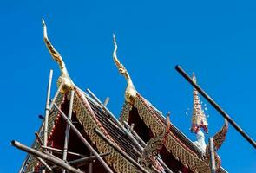
[[[154, 135], [159, 134], [161, 132], [161, 126], [163, 126], [164, 124], [161, 122], [161, 120], [158, 118], [152, 108], [148, 105], [148, 101], [142, 98], [139, 93], [137, 93], [137, 97], [135, 99], [135, 108], [138, 109], [141, 119], [143, 119], [145, 124], [151, 129]], [[226, 129], [225, 125], [224, 127], [222, 127], [222, 129]], [[226, 131], [224, 130], [220, 131], [221, 135], [217, 135], [218, 137], [221, 137], [221, 140], [219, 141], [224, 141], [224, 137], [226, 136], [225, 133]], [[186, 144], [182, 143], [179, 138], [175, 137], [172, 131], [170, 131], [167, 135], [165, 147], [167, 148], [167, 151], [172, 153], [172, 155], [177, 160], [179, 160], [190, 170], [201, 173], [211, 172], [208, 160], [200, 158], [200, 156], [198, 156], [194, 151], [189, 149]], [[218, 162], [217, 159], [216, 161]]]

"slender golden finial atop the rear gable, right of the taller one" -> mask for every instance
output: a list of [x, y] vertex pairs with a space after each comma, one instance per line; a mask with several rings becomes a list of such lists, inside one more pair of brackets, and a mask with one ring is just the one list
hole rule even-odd
[[119, 73], [123, 75], [127, 81], [127, 88], [125, 90], [125, 100], [128, 101], [130, 104], [134, 104], [135, 97], [136, 97], [136, 90], [135, 86], [133, 84], [133, 81], [131, 80], [130, 75], [128, 74], [127, 69], [121, 64], [121, 62], [117, 59], [116, 51], [117, 51], [117, 44], [115, 40], [115, 34], [113, 34], [113, 42], [114, 42], [114, 51], [113, 51], [113, 60], [115, 62], [116, 67], [119, 70]]

